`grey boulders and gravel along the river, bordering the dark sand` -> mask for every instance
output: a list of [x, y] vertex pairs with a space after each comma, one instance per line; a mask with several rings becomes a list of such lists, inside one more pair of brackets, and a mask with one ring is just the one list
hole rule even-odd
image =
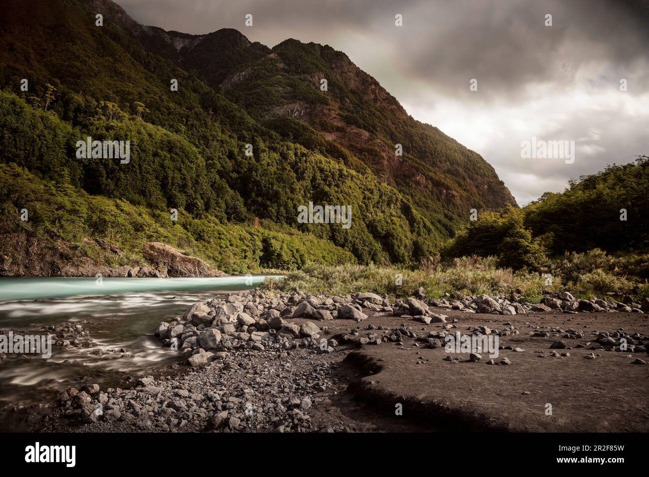
[[[412, 341], [415, 349], [443, 348], [444, 337], [459, 329], [460, 321], [448, 319], [434, 308], [439, 312], [453, 310], [467, 318], [485, 313], [516, 317], [557, 311], [568, 316], [649, 311], [649, 300], [636, 303], [631, 297], [622, 297], [620, 302], [611, 298], [576, 300], [568, 292], [558, 292], [547, 293], [543, 304], [521, 303], [517, 298], [479, 295], [427, 300], [419, 293], [417, 297], [393, 301], [374, 293], [338, 297], [252, 291], [195, 303], [182, 317], [162, 322], [154, 331], [162, 345], [178, 352], [185, 365], [173, 365], [167, 376], [143, 376], [130, 389], [102, 390], [96, 384], [70, 388], [60, 394], [53, 413], [37, 428], [53, 429], [67, 422], [71, 424], [69, 430], [83, 432], [347, 431], [350, 428], [345, 424], [314, 424], [310, 417], [312, 406], [339, 382], [336, 369], [341, 360], [353, 350], [382, 343], [392, 343], [399, 349], [404, 349], [406, 341]], [[372, 319], [367, 321], [369, 317]], [[402, 323], [376, 326], [373, 322], [380, 317], [397, 318]], [[339, 320], [356, 326], [344, 332], [332, 331], [330, 328]], [[517, 337], [519, 329], [507, 323], [500, 330], [479, 326], [470, 332]], [[417, 324], [439, 329], [417, 332]], [[536, 327], [528, 334], [562, 338], [553, 339], [550, 354], [539, 355], [550, 358], [570, 356], [565, 350], [572, 347], [566, 344], [566, 338], [586, 339], [582, 331], [570, 328]], [[591, 359], [598, 358], [596, 352], [600, 350], [620, 351], [622, 338], [628, 345], [626, 352], [636, 356], [646, 353], [646, 337], [620, 329], [596, 332], [593, 345], [587, 342], [594, 350]], [[511, 345], [500, 348], [524, 351]], [[472, 355], [469, 361], [480, 358]], [[423, 358], [417, 358], [417, 364], [420, 360], [424, 363]], [[454, 357], [447, 361], [458, 362]], [[640, 358], [636, 362], [645, 363]], [[499, 363], [511, 365], [508, 358]]]

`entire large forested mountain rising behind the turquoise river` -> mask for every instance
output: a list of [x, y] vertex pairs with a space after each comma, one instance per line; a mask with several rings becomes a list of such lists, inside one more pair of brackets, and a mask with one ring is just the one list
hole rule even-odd
[[[231, 29], [167, 32], [140, 25], [108, 0], [8, 0], [5, 12], [0, 162], [34, 175], [43, 197], [47, 184], [63, 183], [111, 207], [153, 216], [178, 209], [186, 218], [167, 226], [190, 234], [193, 252], [225, 271], [310, 260], [417, 262], [453, 236], [469, 209], [515, 203], [478, 154], [408, 116], [328, 46], [286, 40], [269, 49]], [[75, 145], [88, 136], [129, 140], [130, 162], [77, 158]], [[17, 197], [30, 200], [12, 184], [1, 186], [5, 208], [20, 210]], [[297, 223], [297, 208], [310, 201], [351, 206], [352, 227]], [[127, 224], [97, 214], [84, 216], [66, 240], [111, 234], [128, 242]], [[223, 225], [219, 233], [230, 243], [228, 224], [268, 232], [258, 250], [246, 252], [215, 245], [195, 221]], [[56, 238], [56, 227], [45, 223], [21, 233]], [[128, 245], [145, 239], [162, 241], [151, 232]], [[300, 240], [321, 241], [331, 253]], [[226, 249], [236, 265], [224, 267], [218, 255]], [[2, 252], [10, 255], [11, 246]]]

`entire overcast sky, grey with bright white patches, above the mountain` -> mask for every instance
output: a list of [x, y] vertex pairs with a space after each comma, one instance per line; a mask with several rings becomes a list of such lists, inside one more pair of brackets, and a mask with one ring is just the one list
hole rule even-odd
[[[297, 38], [344, 51], [415, 119], [482, 154], [519, 204], [607, 164], [649, 155], [644, 0], [117, 3], [136, 21], [167, 30], [228, 27], [270, 47]], [[252, 27], [244, 26], [246, 14]], [[545, 25], [548, 14], [552, 26]], [[470, 91], [471, 79], [477, 91]], [[532, 138], [574, 141], [574, 162], [522, 158], [521, 143]]]

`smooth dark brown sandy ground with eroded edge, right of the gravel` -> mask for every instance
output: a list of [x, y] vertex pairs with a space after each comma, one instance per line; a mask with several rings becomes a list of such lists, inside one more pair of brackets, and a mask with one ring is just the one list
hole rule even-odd
[[[434, 311], [448, 315], [448, 322], [458, 319], [455, 324], [462, 334], [471, 334], [477, 326], [503, 330], [503, 323], [510, 322], [519, 334], [500, 337], [500, 345], [524, 351], [500, 350], [496, 361], [506, 356], [511, 365], [487, 365], [486, 353], [478, 362], [469, 361], [468, 354], [459, 354], [456, 356], [460, 362], [450, 363], [444, 360], [447, 353], [443, 347], [429, 349], [421, 341], [415, 347], [415, 340], [409, 338], [403, 340], [403, 345], [363, 345], [349, 353], [337, 352], [336, 358], [331, 359], [338, 361], [339, 384], [328, 390], [313, 410], [314, 422], [347, 422], [356, 430], [396, 432], [649, 430], [649, 367], [632, 364], [635, 358], [646, 361], [646, 352], [591, 350], [597, 345], [596, 332], [624, 328], [630, 334], [646, 336], [647, 315], [533, 313], [505, 317]], [[377, 328], [405, 324], [419, 336], [443, 330], [445, 326], [386, 316], [371, 316], [361, 323], [334, 320], [319, 324], [328, 326], [324, 334], [328, 338], [356, 327], [360, 328], [361, 336], [382, 333], [367, 330], [369, 324]], [[533, 331], [551, 328], [581, 330], [584, 336], [569, 339], [556, 332], [551, 332], [550, 337], [530, 336]], [[563, 339], [568, 349], [556, 351], [568, 352], [569, 357], [550, 357], [549, 347], [557, 339]], [[585, 347], [576, 348], [577, 345]], [[585, 359], [591, 352], [600, 356]], [[397, 404], [402, 404], [400, 416], [395, 415]], [[552, 415], [546, 413], [547, 404], [552, 405]]]

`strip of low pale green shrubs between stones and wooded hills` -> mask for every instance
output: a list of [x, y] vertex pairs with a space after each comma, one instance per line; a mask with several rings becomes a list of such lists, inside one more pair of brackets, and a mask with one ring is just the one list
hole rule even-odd
[[[599, 257], [585, 257], [574, 254], [572, 261], [554, 261], [541, 271], [513, 271], [498, 266], [498, 258], [480, 256], [455, 258], [452, 262], [428, 265], [419, 269], [385, 267], [378, 265], [307, 265], [303, 269], [288, 273], [283, 280], [275, 280], [275, 289], [305, 293], [327, 293], [347, 295], [371, 291], [378, 294], [408, 297], [422, 287], [426, 296], [441, 298], [445, 293], [463, 295], [482, 293], [515, 292], [524, 301], [537, 303], [543, 298], [543, 291], [567, 290], [580, 297], [604, 296], [607, 292], [627, 293], [635, 284], [641, 284], [637, 277], [616, 275], [602, 268]], [[619, 262], [620, 258], [611, 259]], [[575, 262], [580, 263], [577, 268]], [[570, 263], [571, 265], [567, 265]], [[570, 268], [572, 267], [572, 268]], [[577, 273], [577, 270], [580, 273]], [[400, 285], [397, 283], [399, 282]], [[269, 280], [262, 286], [269, 288]], [[639, 287], [637, 295], [649, 295], [649, 285]], [[636, 294], [636, 293], [634, 293]]]

